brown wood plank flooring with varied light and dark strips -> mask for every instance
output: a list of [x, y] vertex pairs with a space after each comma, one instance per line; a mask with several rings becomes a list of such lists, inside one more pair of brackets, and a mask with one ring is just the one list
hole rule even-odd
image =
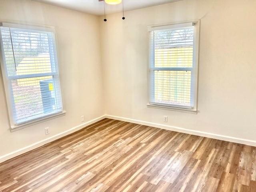
[[0, 192], [256, 192], [256, 148], [104, 119], [0, 164]]

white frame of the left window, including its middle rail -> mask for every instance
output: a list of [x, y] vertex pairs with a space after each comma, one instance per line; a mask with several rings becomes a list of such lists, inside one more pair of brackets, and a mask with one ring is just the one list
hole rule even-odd
[[[55, 46], [55, 52], [56, 52], [56, 58], [55, 58], [55, 67], [56, 67], [56, 72], [51, 72], [51, 73], [42, 73], [42, 74], [34, 74], [34, 76], [44, 76], [44, 75], [49, 75], [49, 76], [58, 76], [58, 86], [60, 88], [60, 97], [61, 97], [61, 102], [62, 102], [62, 110], [60, 112], [56, 112], [53, 114], [49, 114], [46, 116], [42, 116], [39, 118], [34, 118], [22, 123], [15, 123], [14, 120], [14, 109], [12, 106], [12, 87], [11, 87], [11, 80], [15, 79], [14, 76], [9, 77], [8, 76], [8, 71], [6, 67], [6, 60], [5, 60], [5, 55], [4, 55], [4, 47], [3, 47], [3, 42], [2, 42], [2, 34], [0, 31], [0, 67], [2, 70], [2, 77], [3, 77], [3, 82], [4, 82], [4, 91], [5, 91], [5, 96], [6, 96], [6, 103], [7, 103], [7, 109], [8, 109], [8, 117], [9, 117], [9, 122], [10, 122], [10, 130], [18, 130], [21, 128], [25, 128], [28, 126], [32, 126], [34, 124], [38, 124], [40, 122], [44, 122], [46, 120], [50, 120], [53, 118], [57, 118], [59, 116], [63, 116], [66, 114], [66, 111], [64, 110], [64, 100], [62, 97], [62, 89], [60, 86], [60, 72], [59, 72], [59, 66], [58, 66], [58, 43], [57, 43], [57, 36], [56, 36], [56, 31], [53, 26], [32, 26], [32, 25], [22, 25], [22, 24], [13, 24], [13, 23], [5, 23], [5, 22], [0, 22], [0, 26], [6, 27], [6, 28], [18, 28], [18, 29], [23, 29], [23, 30], [33, 30], [35, 32], [52, 32], [53, 33], [53, 38], [54, 38], [54, 46]], [[22, 75], [22, 78], [24, 77], [32, 77], [33, 74], [31, 75]]]

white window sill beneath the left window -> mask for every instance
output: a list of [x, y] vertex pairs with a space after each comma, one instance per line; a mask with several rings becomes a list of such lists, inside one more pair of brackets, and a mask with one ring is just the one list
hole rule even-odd
[[29, 127], [29, 126], [32, 126], [32, 125], [35, 125], [35, 124], [39, 124], [39, 123], [42, 123], [42, 122], [45, 122], [45, 121], [48, 121], [48, 120], [52, 120], [52, 119], [64, 116], [65, 114], [66, 114], [66, 111], [62, 111], [62, 112], [59, 112], [59, 113], [56, 113], [56, 114], [53, 114], [53, 115], [50, 115], [50, 116], [46, 116], [46, 117], [43, 117], [43, 118], [32, 120], [32, 121], [27, 122], [25, 124], [11, 125], [10, 131], [14, 132], [14, 131], [17, 131], [17, 130], [20, 130], [20, 129], [23, 129], [23, 128], [26, 128], [26, 127]]

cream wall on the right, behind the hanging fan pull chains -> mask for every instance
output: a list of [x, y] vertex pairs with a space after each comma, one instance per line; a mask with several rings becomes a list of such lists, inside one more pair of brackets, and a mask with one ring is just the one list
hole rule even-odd
[[[183, 0], [126, 12], [124, 21], [100, 18], [106, 114], [256, 140], [255, 8], [255, 0]], [[194, 19], [201, 19], [198, 114], [147, 108], [147, 26]]]

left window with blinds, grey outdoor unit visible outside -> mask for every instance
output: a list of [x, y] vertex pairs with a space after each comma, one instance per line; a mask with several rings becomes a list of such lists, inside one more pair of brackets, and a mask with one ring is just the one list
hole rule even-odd
[[19, 27], [6, 23], [0, 27], [1, 68], [12, 128], [62, 112], [54, 32]]

